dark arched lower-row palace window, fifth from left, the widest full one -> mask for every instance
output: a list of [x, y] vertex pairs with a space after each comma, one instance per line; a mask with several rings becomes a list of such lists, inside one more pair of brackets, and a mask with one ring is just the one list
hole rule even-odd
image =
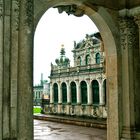
[[93, 94], [93, 103], [99, 104], [99, 83], [97, 80], [92, 81], [92, 94]]

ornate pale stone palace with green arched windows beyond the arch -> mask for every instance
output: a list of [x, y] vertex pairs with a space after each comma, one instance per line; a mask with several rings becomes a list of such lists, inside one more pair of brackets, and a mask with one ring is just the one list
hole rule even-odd
[[104, 45], [100, 33], [86, 35], [72, 50], [74, 66], [62, 45], [51, 64], [50, 113], [107, 118]]

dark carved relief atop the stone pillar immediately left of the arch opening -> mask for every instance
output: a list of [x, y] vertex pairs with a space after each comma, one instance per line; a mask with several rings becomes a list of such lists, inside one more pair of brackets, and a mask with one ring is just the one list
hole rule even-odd
[[33, 0], [27, 0], [26, 2], [26, 22], [28, 26], [32, 26], [33, 22]]

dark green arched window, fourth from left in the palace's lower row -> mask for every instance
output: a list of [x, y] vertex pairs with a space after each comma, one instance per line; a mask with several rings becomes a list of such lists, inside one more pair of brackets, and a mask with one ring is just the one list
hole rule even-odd
[[82, 104], [87, 104], [87, 84], [85, 81], [80, 83]]

